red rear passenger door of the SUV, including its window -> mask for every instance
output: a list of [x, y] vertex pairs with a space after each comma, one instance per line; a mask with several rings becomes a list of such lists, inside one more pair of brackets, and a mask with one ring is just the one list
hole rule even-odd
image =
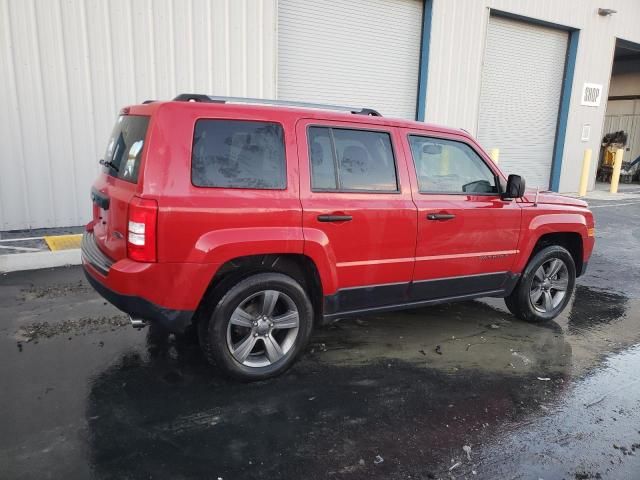
[[336, 266], [328, 310], [401, 303], [417, 226], [397, 129], [303, 119], [296, 131], [305, 250]]

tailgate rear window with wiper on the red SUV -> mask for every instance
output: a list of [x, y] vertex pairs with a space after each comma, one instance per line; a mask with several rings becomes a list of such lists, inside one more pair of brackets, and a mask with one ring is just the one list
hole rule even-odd
[[104, 171], [112, 177], [137, 183], [149, 117], [121, 115], [113, 127], [104, 154]]

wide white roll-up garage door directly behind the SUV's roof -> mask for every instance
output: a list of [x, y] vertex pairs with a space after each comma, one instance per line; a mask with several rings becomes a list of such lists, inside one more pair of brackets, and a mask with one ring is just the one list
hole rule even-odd
[[278, 98], [415, 119], [422, 0], [279, 0]]

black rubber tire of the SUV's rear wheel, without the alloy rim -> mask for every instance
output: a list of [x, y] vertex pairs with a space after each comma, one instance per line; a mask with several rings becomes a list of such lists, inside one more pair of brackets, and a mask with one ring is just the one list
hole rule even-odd
[[[265, 366], [247, 366], [234, 357], [228, 342], [228, 328], [230, 328], [231, 316], [236, 308], [248, 298], [258, 296], [264, 291], [279, 292], [279, 298], [286, 298], [287, 302], [291, 301], [295, 305], [298, 313], [297, 334], [292, 340], [289, 350], [277, 361]], [[217, 294], [212, 295], [210, 300], [214, 300], [216, 303], [212, 305], [210, 315], [202, 318], [199, 322], [200, 346], [209, 363], [217, 366], [227, 376], [237, 380], [250, 382], [282, 374], [291, 367], [307, 345], [313, 330], [313, 307], [307, 293], [293, 278], [281, 273], [258, 273], [243, 278], [237, 283], [234, 282], [232, 285], [227, 283], [223, 289], [218, 289]], [[275, 331], [270, 331], [265, 334], [265, 337], [271, 333], [275, 334]], [[266, 359], [268, 356], [267, 339], [259, 337], [255, 341], [263, 342], [263, 357]], [[260, 343], [256, 343], [256, 345], [256, 348], [259, 348]]]

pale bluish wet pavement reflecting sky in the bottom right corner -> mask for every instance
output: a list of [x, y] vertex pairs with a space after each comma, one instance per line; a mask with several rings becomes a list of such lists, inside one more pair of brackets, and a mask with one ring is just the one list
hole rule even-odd
[[475, 468], [483, 478], [638, 478], [640, 346], [609, 356], [557, 398], [545, 415], [482, 439]]

